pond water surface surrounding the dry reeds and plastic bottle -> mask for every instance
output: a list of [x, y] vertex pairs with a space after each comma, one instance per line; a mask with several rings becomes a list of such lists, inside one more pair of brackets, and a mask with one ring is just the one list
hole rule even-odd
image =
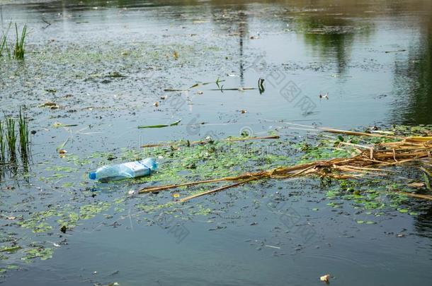
[[21, 247], [0, 252], [1, 281], [322, 285], [330, 273], [331, 285], [430, 284], [425, 202], [334, 208], [318, 179], [269, 180], [164, 213], [146, 205], [171, 193], [127, 196], [159, 181], [87, 174], [161, 141], [432, 124], [431, 11], [428, 0], [0, 0], [2, 32], [13, 40], [9, 23], [28, 25], [25, 60], [0, 58], [1, 110], [25, 106], [34, 131], [30, 162], [0, 165], [0, 246]]

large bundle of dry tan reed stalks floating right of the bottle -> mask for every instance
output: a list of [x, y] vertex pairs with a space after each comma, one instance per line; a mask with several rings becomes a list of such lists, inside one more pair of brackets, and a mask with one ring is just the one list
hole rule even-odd
[[[234, 186], [240, 186], [250, 181], [259, 179], [289, 179], [304, 175], [316, 174], [319, 177], [330, 177], [334, 179], [348, 179], [362, 177], [364, 174], [382, 175], [385, 169], [377, 169], [377, 167], [388, 167], [394, 165], [402, 165], [407, 162], [419, 161], [424, 158], [431, 158], [432, 137], [409, 136], [405, 138], [397, 136], [385, 136], [373, 133], [362, 133], [357, 131], [343, 131], [339, 129], [320, 129], [332, 133], [345, 133], [350, 135], [361, 135], [371, 137], [393, 138], [393, 142], [377, 143], [373, 147], [364, 146], [366, 150], [358, 149], [358, 155], [353, 157], [336, 157], [330, 160], [318, 160], [314, 162], [303, 163], [287, 167], [277, 167], [259, 172], [246, 172], [234, 177], [223, 177], [219, 179], [208, 179], [203, 181], [191, 181], [183, 184], [171, 184], [166, 186], [152, 186], [139, 190], [139, 193], [147, 193], [151, 191], [162, 191], [166, 189], [176, 189], [181, 186], [194, 186], [198, 184], [208, 184], [220, 181], [237, 181], [234, 184], [221, 186], [210, 191], [195, 193], [186, 198], [182, 198], [180, 202], [189, 201], [199, 196], [204, 196], [209, 193], [215, 193]], [[432, 196], [407, 193], [399, 191], [407, 196], [415, 198], [424, 198], [432, 200]]]

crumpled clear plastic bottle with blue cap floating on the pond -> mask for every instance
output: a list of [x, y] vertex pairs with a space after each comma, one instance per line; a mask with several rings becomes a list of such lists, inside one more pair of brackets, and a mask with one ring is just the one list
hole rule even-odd
[[126, 178], [148, 176], [157, 169], [158, 163], [153, 158], [118, 165], [106, 165], [89, 173], [89, 178], [99, 181], [115, 181]]

